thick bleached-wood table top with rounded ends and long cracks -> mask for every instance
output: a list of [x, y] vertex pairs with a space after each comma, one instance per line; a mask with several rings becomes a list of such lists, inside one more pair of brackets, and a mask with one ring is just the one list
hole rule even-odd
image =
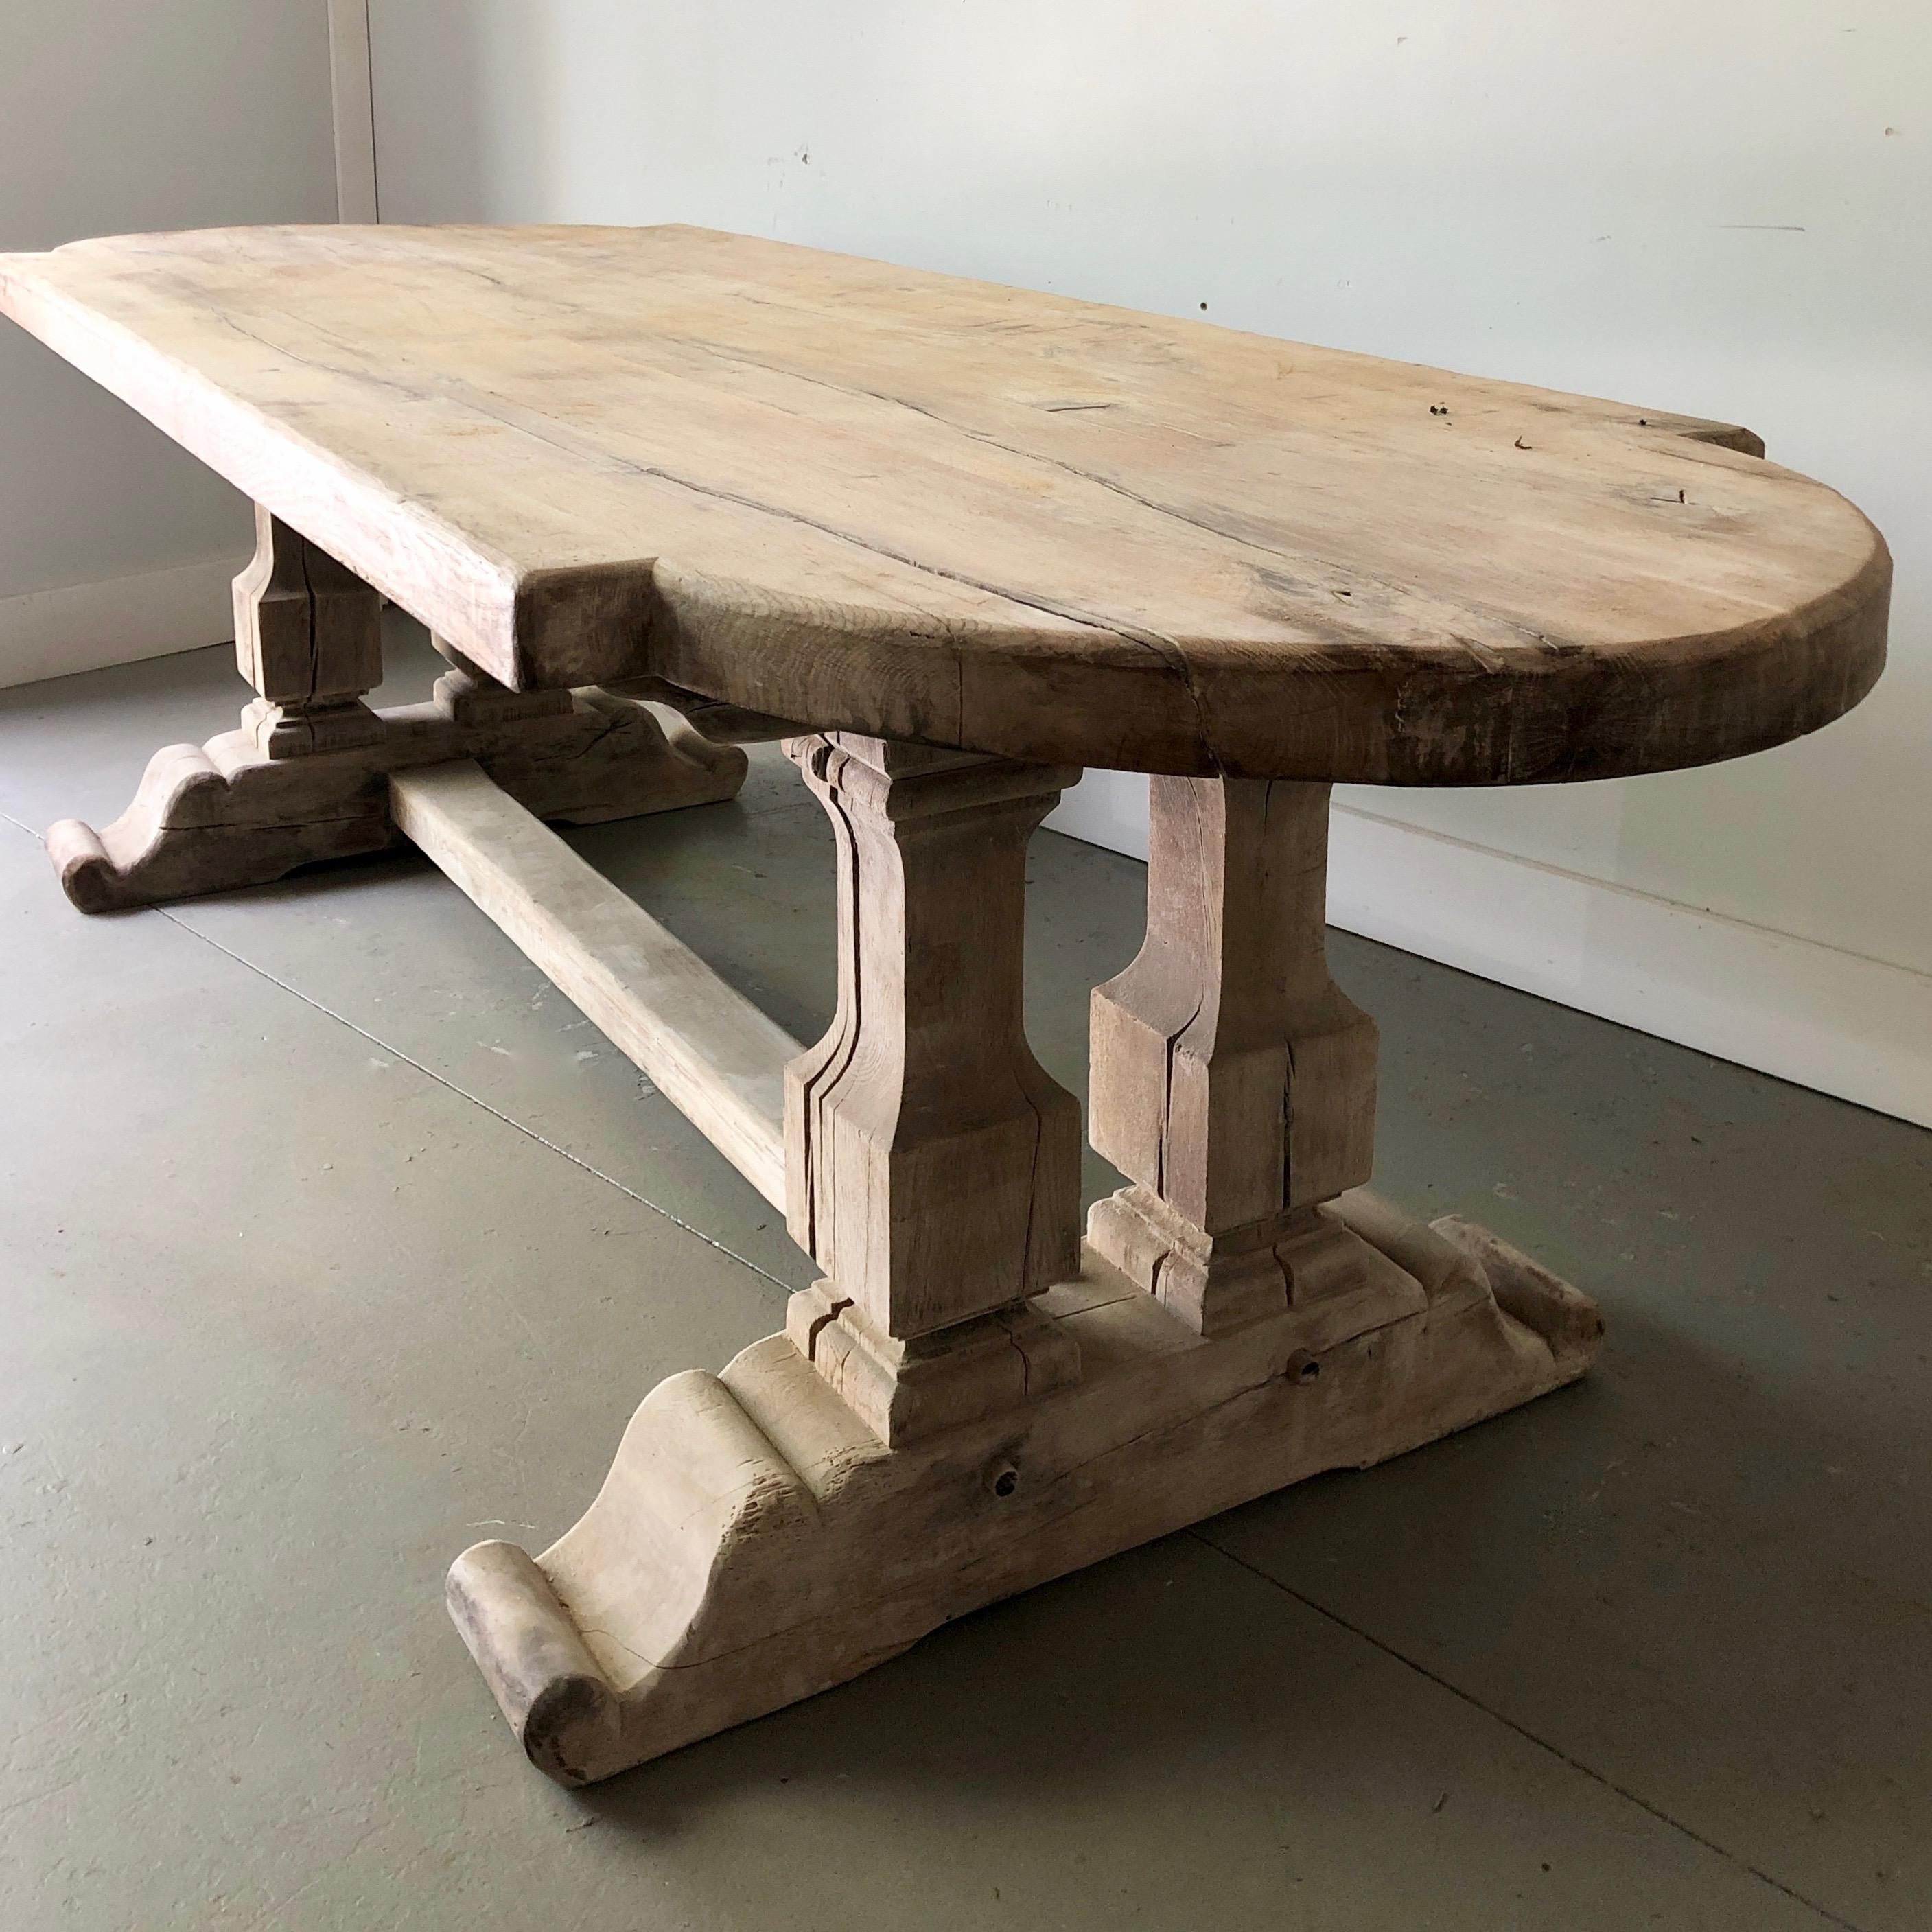
[[0, 309], [508, 684], [1492, 784], [1884, 663], [1884, 539], [1748, 431], [1202, 321], [697, 228], [77, 242]]

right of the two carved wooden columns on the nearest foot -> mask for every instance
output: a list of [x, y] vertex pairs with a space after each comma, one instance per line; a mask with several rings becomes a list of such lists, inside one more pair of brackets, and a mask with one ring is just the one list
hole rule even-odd
[[1200, 1333], [1293, 1296], [1368, 1180], [1376, 1024], [1329, 978], [1325, 784], [1150, 784], [1148, 937], [1094, 993], [1090, 1136], [1136, 1186], [1088, 1238]]

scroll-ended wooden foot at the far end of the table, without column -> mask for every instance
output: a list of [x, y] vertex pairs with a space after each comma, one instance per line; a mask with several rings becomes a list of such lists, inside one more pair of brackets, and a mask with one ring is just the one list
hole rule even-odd
[[456, 757], [477, 759], [537, 817], [572, 825], [715, 804], [744, 784], [744, 752], [711, 744], [682, 721], [667, 734], [632, 699], [535, 692], [491, 709], [444, 690], [448, 682], [427, 705], [336, 707], [342, 719], [334, 711], [330, 719], [354, 728], [336, 732], [330, 750], [290, 755], [290, 721], [276, 707], [249, 705], [240, 730], [156, 752], [112, 825], [50, 827], [46, 852], [62, 889], [81, 912], [116, 912], [381, 852], [402, 842], [388, 775]]

